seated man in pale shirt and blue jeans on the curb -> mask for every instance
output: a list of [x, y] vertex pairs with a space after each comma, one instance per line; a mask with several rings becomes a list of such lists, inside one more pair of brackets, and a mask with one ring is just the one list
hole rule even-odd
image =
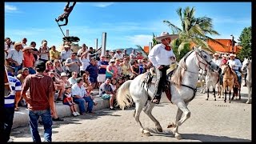
[[[82, 78], [77, 78], [77, 83], [74, 84], [72, 88], [72, 96], [74, 98], [74, 102], [78, 104], [80, 114], [93, 113], [94, 101], [90, 97], [90, 94], [87, 94], [85, 87], [82, 85]], [[86, 110], [86, 102], [88, 102], [88, 107]]]

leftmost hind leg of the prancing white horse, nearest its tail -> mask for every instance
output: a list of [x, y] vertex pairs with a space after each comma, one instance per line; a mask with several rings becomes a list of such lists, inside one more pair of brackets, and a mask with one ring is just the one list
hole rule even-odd
[[146, 136], [150, 136], [151, 135], [150, 132], [148, 130], [145, 130], [142, 126], [142, 123], [139, 121], [139, 115], [141, 114], [142, 108], [145, 103], [146, 102], [144, 102], [143, 104], [142, 104], [142, 102], [141, 103], [135, 102], [134, 118], [135, 118], [135, 121], [137, 122], [138, 126], [141, 127], [140, 130], [141, 130], [142, 134], [144, 134]]

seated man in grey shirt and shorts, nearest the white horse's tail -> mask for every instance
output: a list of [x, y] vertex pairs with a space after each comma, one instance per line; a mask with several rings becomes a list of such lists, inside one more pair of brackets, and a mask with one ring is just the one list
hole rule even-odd
[[115, 110], [114, 109], [115, 93], [111, 88], [110, 82], [111, 82], [111, 78], [106, 78], [106, 81], [102, 83], [101, 86], [99, 86], [99, 95], [104, 100], [110, 100], [110, 110]]

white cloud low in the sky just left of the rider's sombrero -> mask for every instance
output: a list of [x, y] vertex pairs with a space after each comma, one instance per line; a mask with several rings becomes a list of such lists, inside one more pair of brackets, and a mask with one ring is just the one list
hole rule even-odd
[[148, 46], [149, 42], [152, 42], [152, 35], [144, 35], [144, 34], [138, 34], [134, 36], [126, 36], [127, 41], [131, 44], [139, 45], [139, 46]]

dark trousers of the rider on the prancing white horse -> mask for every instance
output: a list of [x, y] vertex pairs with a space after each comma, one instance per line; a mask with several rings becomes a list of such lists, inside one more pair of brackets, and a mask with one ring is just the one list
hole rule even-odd
[[156, 68], [156, 72], [157, 72], [157, 77], [160, 76], [160, 80], [158, 82], [158, 91], [156, 96], [160, 97], [162, 94], [162, 91], [164, 89], [164, 87], [166, 86], [166, 70], [168, 70], [170, 68], [170, 66], [163, 66], [162, 69], [157, 69]]

